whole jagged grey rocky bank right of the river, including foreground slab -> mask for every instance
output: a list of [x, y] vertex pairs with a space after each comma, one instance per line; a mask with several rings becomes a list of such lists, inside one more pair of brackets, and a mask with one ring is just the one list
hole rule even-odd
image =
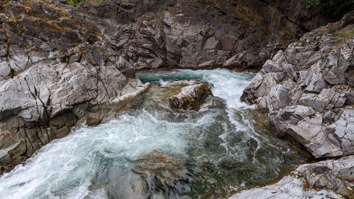
[[[268, 60], [241, 99], [268, 113], [275, 134], [316, 158], [354, 154], [353, 12]], [[279, 182], [231, 198], [353, 197], [353, 156], [302, 165]]]

